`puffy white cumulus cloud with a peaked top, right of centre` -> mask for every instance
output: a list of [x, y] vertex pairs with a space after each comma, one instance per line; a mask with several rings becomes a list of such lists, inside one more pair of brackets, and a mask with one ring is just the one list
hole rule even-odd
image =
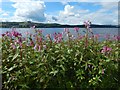
[[88, 10], [78, 10], [75, 6], [65, 5], [64, 10], [59, 12], [57, 21], [61, 24], [80, 24], [81, 16], [88, 12]]

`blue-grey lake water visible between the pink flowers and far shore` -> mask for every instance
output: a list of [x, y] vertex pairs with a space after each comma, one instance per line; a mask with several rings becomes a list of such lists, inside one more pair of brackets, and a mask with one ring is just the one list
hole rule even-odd
[[[63, 32], [64, 28], [37, 28], [39, 30], [43, 30], [43, 35], [47, 34], [53, 34], [55, 32]], [[0, 37], [2, 33], [5, 33], [6, 31], [11, 31], [10, 28], [0, 28]], [[34, 29], [32, 28], [16, 28], [17, 31], [22, 33], [23, 36], [26, 36], [25, 32], [29, 33], [35, 33]], [[76, 35], [76, 32], [74, 31], [74, 28], [69, 28], [70, 32], [73, 35]], [[84, 35], [85, 28], [80, 28], [79, 32]], [[118, 28], [92, 28], [92, 31], [94, 34], [100, 34], [100, 40], [104, 38], [105, 35], [110, 34], [111, 36], [118, 35]]]

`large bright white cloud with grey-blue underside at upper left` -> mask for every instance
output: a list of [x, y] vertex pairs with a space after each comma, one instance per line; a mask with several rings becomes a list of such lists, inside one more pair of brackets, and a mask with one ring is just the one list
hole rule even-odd
[[11, 0], [15, 2], [12, 6], [16, 9], [14, 13], [14, 17], [16, 18], [24, 18], [25, 20], [45, 21], [45, 4], [43, 1], [37, 0], [26, 0], [21, 2], [22, 0]]

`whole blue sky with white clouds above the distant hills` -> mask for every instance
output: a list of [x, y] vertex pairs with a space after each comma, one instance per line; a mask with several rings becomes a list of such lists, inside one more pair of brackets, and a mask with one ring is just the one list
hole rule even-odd
[[0, 22], [118, 24], [117, 0], [0, 0]]

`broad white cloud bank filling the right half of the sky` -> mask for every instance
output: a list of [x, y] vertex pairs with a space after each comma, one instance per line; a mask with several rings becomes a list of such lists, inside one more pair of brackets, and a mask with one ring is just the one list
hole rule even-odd
[[118, 24], [117, 3], [104, 2], [93, 3], [101, 5], [97, 11], [90, 12], [87, 9], [76, 9], [75, 6], [65, 5], [64, 10], [59, 12], [58, 22], [61, 24], [83, 24], [90, 20], [94, 24]]

